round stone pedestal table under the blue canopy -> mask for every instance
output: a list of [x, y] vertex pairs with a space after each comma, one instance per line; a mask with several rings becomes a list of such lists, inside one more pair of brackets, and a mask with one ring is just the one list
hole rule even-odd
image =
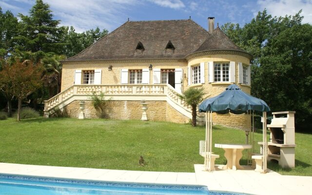
[[227, 163], [223, 166], [223, 169], [244, 169], [244, 167], [239, 165], [239, 160], [243, 156], [242, 151], [244, 149], [252, 148], [249, 144], [215, 144], [216, 148], [222, 148], [225, 153]]

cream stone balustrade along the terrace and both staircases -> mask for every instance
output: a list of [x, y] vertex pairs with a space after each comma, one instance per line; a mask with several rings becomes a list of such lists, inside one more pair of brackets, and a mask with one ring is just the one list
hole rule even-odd
[[[104, 93], [112, 100], [166, 100], [174, 109], [188, 118], [192, 118], [191, 106], [179, 98], [179, 93], [168, 84], [148, 85], [73, 85], [58, 95], [44, 101], [44, 117], [49, 117], [55, 107], [62, 109], [75, 100], [88, 100], [95, 93]], [[199, 125], [205, 122], [204, 114], [197, 113]]]

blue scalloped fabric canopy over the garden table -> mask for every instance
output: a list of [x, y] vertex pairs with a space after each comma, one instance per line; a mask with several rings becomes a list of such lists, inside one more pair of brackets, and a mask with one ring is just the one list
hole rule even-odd
[[259, 98], [243, 92], [237, 85], [229, 85], [224, 92], [214, 98], [204, 100], [199, 105], [199, 112], [216, 112], [219, 114], [242, 114], [248, 110], [269, 112], [268, 104]]

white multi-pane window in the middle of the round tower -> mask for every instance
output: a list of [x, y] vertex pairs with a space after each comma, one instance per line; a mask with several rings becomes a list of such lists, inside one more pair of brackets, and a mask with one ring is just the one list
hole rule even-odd
[[[219, 69], [217, 69], [218, 65], [219, 65]], [[227, 68], [227, 70], [225, 68]], [[217, 77], [218, 75], [220, 77]], [[230, 75], [230, 62], [215, 62], [214, 63], [214, 82], [230, 82], [230, 76], [231, 76]]]

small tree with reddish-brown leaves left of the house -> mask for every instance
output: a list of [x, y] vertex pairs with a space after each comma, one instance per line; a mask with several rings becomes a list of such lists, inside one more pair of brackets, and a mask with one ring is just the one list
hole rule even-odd
[[[1, 74], [8, 79], [4, 83], [11, 88], [13, 95], [18, 98], [18, 121], [20, 121], [21, 101], [41, 86], [41, 66], [32, 61], [16, 62], [3, 67]], [[3, 85], [3, 84], [2, 84]]]

